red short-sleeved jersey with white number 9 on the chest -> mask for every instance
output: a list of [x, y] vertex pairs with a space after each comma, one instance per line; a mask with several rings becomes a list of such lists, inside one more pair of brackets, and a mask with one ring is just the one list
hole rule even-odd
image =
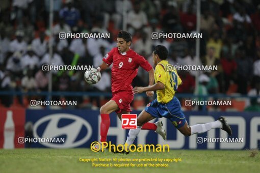
[[112, 93], [119, 91], [133, 92], [132, 81], [137, 75], [138, 67], [141, 66], [147, 72], [152, 69], [148, 61], [132, 49], [120, 53], [118, 48], [115, 47], [103, 57], [103, 62], [107, 65], [113, 63], [111, 76]]

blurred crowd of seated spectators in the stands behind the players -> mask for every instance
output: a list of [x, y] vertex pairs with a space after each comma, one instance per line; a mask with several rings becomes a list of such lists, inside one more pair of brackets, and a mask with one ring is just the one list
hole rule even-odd
[[[54, 0], [54, 37], [49, 39], [49, 0], [2, 0], [0, 3], [0, 91], [48, 91], [48, 42], [53, 41], [53, 65], [97, 67], [113, 47], [126, 22], [133, 35], [131, 48], [151, 64], [153, 46], [169, 50], [169, 63], [195, 64], [196, 39], [152, 40], [151, 33], [192, 33], [196, 30], [197, 1], [193, 0]], [[124, 14], [124, 10], [126, 14]], [[217, 71], [178, 71], [178, 93], [260, 95], [260, 2], [257, 0], [201, 1], [200, 65]], [[59, 39], [59, 33], [110, 33], [109, 39]], [[87, 85], [84, 71], [52, 71], [53, 91], [111, 92], [110, 69], [96, 85]], [[148, 73], [139, 69], [133, 86], [146, 86]], [[102, 95], [102, 94], [100, 94]], [[27, 106], [45, 96], [1, 95], [0, 106]], [[77, 107], [100, 107], [109, 97], [53, 96], [77, 100]], [[86, 101], [87, 100], [87, 101]], [[142, 99], [141, 99], [142, 100]], [[148, 100], [142, 100], [147, 102]], [[138, 101], [133, 104], [139, 104]], [[135, 107], [135, 105], [133, 105]], [[243, 108], [260, 110], [260, 99], [243, 101]]]

